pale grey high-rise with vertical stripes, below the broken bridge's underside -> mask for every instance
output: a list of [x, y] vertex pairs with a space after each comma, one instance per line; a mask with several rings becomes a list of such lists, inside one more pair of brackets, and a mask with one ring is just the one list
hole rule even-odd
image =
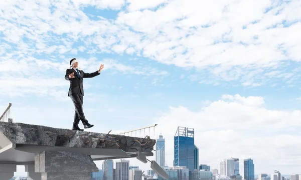
[[116, 161], [116, 179], [114, 180], [129, 180], [129, 160]]

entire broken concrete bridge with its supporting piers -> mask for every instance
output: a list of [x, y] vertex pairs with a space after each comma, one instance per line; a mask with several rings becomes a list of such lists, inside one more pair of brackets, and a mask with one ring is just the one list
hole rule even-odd
[[[155, 139], [0, 122], [0, 180], [25, 165], [34, 180], [88, 180], [94, 160], [153, 156]], [[154, 162], [155, 163], [155, 162]]]

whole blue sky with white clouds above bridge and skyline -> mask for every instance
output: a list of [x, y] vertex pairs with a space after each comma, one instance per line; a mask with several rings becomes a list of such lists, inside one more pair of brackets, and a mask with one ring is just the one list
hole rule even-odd
[[200, 163], [219, 169], [232, 151], [240, 169], [250, 157], [255, 173], [301, 173], [300, 10], [299, 0], [1, 3], [0, 107], [12, 102], [15, 122], [72, 128], [69, 61], [85, 72], [103, 63], [84, 79], [91, 131], [158, 123], [152, 137], [173, 146], [188, 126]]

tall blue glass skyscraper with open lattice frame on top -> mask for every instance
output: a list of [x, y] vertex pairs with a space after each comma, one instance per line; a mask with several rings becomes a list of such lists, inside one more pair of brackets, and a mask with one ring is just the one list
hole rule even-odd
[[178, 127], [174, 137], [174, 166], [194, 171], [194, 129]]

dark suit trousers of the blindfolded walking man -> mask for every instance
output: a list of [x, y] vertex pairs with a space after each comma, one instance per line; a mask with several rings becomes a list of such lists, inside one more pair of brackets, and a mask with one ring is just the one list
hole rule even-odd
[[75, 106], [73, 125], [78, 124], [79, 120], [81, 120], [82, 123], [85, 125], [88, 122], [88, 120], [86, 119], [84, 111], [83, 111], [83, 102], [84, 102], [83, 94], [81, 92], [75, 93], [75, 94], [71, 94], [70, 97]]

